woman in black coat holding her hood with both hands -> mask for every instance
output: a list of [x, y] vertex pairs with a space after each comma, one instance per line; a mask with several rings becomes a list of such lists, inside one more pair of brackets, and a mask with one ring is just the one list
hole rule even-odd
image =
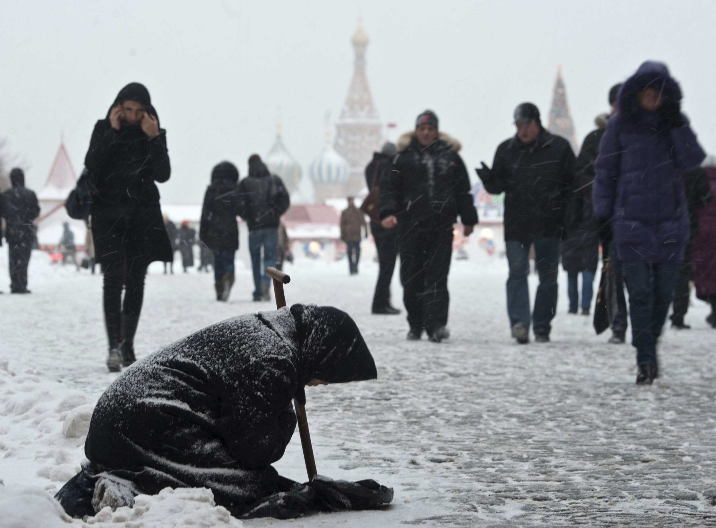
[[155, 185], [171, 173], [166, 131], [143, 85], [122, 88], [107, 117], [97, 121], [84, 165], [97, 189], [92, 236], [104, 270], [107, 368], [117, 372], [135, 361], [147, 267], [173, 260]]

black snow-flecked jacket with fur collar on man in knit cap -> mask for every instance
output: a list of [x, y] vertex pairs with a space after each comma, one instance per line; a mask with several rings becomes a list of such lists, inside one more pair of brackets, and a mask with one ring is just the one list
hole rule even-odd
[[445, 133], [425, 147], [414, 132], [403, 134], [392, 170], [380, 181], [380, 218], [395, 215], [403, 229], [418, 224], [452, 226], [458, 215], [466, 226], [477, 224], [470, 178], [458, 154], [461, 147]]

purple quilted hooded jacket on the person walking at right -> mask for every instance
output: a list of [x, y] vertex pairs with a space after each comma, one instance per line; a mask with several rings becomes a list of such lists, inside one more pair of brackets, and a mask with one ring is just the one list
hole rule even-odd
[[[657, 112], [639, 105], [637, 96], [647, 87], [664, 96]], [[681, 97], [666, 65], [644, 62], [619, 90], [619, 112], [601, 139], [594, 163], [594, 216], [612, 219], [622, 261], [684, 258], [689, 209], [681, 174], [706, 155], [685, 118], [680, 128], [663, 125], [667, 105], [677, 105]]]

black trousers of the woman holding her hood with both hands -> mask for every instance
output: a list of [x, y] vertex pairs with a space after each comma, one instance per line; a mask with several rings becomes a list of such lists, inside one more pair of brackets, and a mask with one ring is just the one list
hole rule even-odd
[[[142, 301], [144, 300], [144, 277], [147, 274], [146, 265], [132, 264], [132, 261], [112, 262], [105, 266], [105, 325], [107, 327], [107, 340], [110, 349], [117, 348], [122, 339], [133, 340], [137, 329]], [[122, 303], [122, 288], [125, 290], [125, 299]], [[122, 335], [122, 319], [130, 322], [132, 335]]]

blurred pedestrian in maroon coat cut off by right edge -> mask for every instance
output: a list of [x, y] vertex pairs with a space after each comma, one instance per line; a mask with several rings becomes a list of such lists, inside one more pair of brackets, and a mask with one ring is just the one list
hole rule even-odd
[[[710, 155], [703, 164], [709, 178], [712, 196], [716, 195], [716, 157]], [[694, 237], [694, 282], [696, 296], [711, 304], [706, 322], [716, 328], [716, 199], [699, 211], [699, 230]]]

